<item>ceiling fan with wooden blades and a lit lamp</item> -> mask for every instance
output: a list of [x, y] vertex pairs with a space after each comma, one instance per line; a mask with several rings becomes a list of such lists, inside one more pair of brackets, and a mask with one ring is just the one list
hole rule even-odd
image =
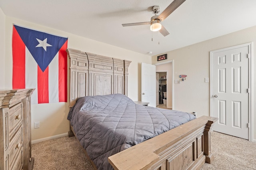
[[160, 11], [159, 6], [153, 6], [152, 12], [155, 14], [151, 17], [150, 22], [137, 22], [137, 23], [130, 23], [130, 24], [122, 24], [123, 27], [126, 26], [139, 26], [139, 25], [149, 25], [150, 24], [150, 30], [151, 31], [159, 31], [163, 36], [167, 36], [170, 33], [164, 28], [164, 26], [161, 24], [163, 20], [165, 20], [174, 10], [176, 10], [183, 2], [186, 0], [174, 0], [172, 3], [160, 14], [158, 12]]

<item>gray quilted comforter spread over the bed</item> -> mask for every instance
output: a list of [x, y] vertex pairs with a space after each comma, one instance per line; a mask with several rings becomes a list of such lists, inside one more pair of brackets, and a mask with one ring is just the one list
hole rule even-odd
[[99, 170], [108, 157], [195, 119], [181, 111], [135, 104], [122, 94], [79, 98], [68, 120], [80, 144]]

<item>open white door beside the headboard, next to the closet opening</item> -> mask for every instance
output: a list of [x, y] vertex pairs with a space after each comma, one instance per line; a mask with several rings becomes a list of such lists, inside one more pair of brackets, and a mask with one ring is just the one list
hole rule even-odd
[[141, 101], [156, 107], [156, 66], [141, 63]]

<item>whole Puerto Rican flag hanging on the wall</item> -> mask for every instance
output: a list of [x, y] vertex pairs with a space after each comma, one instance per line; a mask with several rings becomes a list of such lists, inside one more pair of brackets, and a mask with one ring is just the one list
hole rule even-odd
[[34, 88], [31, 103], [67, 102], [68, 38], [13, 26], [12, 88]]

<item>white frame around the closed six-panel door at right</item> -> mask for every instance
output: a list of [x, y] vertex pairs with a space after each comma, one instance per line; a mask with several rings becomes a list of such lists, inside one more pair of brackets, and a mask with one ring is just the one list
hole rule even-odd
[[252, 45], [253, 43], [244, 43], [244, 44], [240, 44], [240, 45], [235, 45], [232, 47], [227, 47], [227, 48], [223, 48], [223, 49], [217, 49], [214, 51], [210, 51], [210, 116], [212, 117], [213, 115], [213, 54], [217, 53], [217, 52], [221, 52], [221, 51], [227, 51], [230, 49], [235, 49], [235, 48], [240, 48], [240, 47], [245, 47], [248, 46], [249, 48], [249, 52], [250, 55], [248, 55], [248, 61], [249, 61], [249, 141], [253, 141], [253, 99], [254, 99], [254, 95], [253, 95], [253, 51], [252, 51]]

